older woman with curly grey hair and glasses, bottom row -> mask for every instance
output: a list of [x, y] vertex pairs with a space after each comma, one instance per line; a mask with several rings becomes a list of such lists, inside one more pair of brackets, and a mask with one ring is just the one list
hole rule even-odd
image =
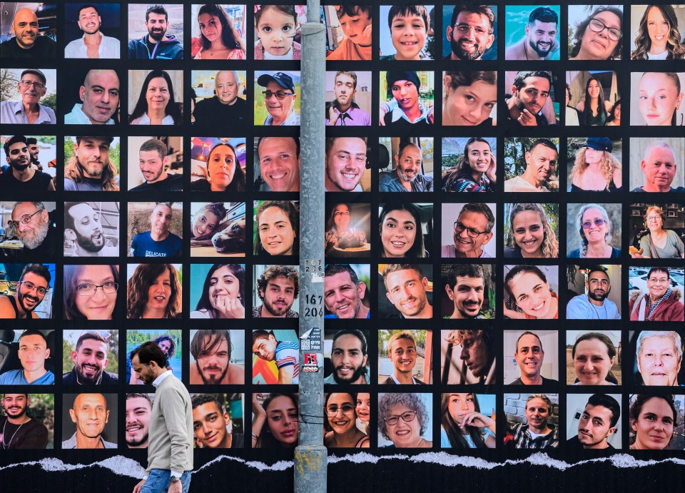
[[416, 394], [381, 394], [378, 397], [378, 432], [389, 439], [387, 448], [430, 448], [423, 434], [430, 426], [426, 405]]

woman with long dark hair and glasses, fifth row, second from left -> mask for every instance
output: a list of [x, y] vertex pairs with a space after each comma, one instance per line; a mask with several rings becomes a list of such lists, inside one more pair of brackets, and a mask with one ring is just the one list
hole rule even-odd
[[65, 265], [64, 318], [112, 320], [118, 287], [118, 265]]

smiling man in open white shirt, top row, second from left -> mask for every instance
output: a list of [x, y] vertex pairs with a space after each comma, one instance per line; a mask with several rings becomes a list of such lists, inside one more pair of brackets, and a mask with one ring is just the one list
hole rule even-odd
[[66, 59], [118, 59], [119, 40], [111, 36], [105, 36], [100, 31], [102, 18], [98, 8], [88, 4], [78, 9], [78, 29], [83, 31], [83, 36], [74, 39], [66, 45], [64, 58]]

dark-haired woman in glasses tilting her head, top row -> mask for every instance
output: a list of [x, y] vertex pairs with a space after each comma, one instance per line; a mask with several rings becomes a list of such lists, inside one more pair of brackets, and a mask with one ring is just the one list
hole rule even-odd
[[623, 12], [614, 6], [599, 6], [578, 24], [569, 60], [613, 60], [621, 56]]

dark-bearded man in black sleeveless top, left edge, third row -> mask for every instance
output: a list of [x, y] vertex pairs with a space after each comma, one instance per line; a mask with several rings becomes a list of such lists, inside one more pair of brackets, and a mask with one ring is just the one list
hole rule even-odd
[[9, 168], [0, 174], [2, 192], [44, 192], [54, 190], [48, 173], [31, 168], [31, 153], [24, 136], [12, 136], [5, 141], [4, 150]]

